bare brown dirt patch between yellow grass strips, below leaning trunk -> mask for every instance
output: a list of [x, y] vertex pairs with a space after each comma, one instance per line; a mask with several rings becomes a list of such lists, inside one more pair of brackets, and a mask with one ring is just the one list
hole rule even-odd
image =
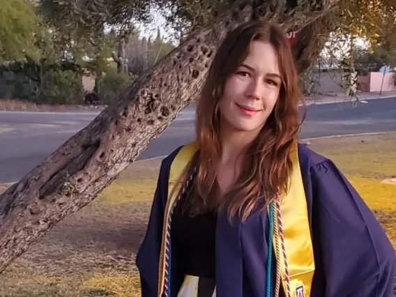
[[127, 264], [123, 271], [134, 270], [150, 208], [149, 202], [108, 205], [93, 201], [56, 224], [22, 259], [47, 273], [93, 271], [114, 266], [119, 259]]

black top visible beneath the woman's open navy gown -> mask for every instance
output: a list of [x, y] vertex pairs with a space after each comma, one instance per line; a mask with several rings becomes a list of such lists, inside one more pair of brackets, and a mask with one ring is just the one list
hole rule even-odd
[[178, 253], [183, 272], [215, 277], [215, 211], [191, 217], [181, 212], [180, 203], [172, 216], [172, 247]]

